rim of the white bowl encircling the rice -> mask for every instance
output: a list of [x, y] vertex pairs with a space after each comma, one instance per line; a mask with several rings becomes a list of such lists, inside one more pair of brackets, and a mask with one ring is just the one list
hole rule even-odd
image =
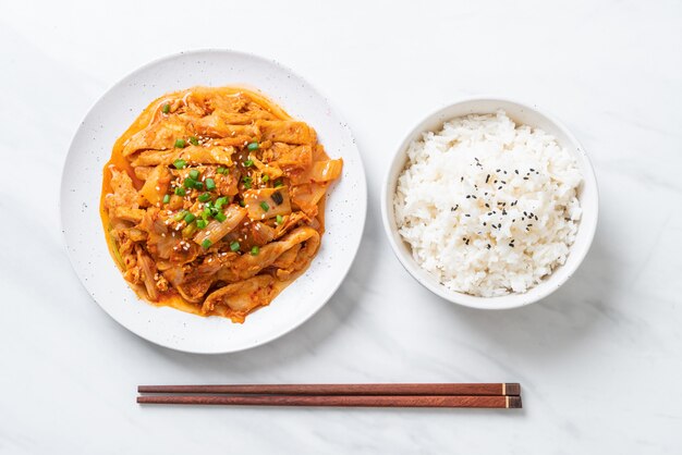
[[[397, 162], [400, 160], [405, 160], [406, 149], [409, 144], [415, 138], [417, 134], [429, 131], [426, 127], [426, 124], [434, 121], [438, 116], [441, 116], [444, 112], [453, 109], [459, 104], [467, 104], [467, 103], [477, 103], [477, 102], [494, 102], [494, 103], [510, 103], [515, 104], [521, 110], [527, 110], [533, 112], [534, 114], [539, 115], [540, 118], [545, 118], [549, 123], [551, 123], [558, 131], [560, 131], [567, 138], [565, 144], [561, 144], [564, 147], [572, 147], [579, 151], [581, 159], [584, 162], [583, 170], [583, 185], [584, 187], [589, 186], [594, 190], [592, 199], [594, 199], [594, 208], [590, 208], [588, 216], [586, 217], [586, 212], [583, 211], [583, 217], [581, 219], [581, 223], [579, 224], [579, 232], [583, 230], [585, 235], [585, 243], [581, 249], [575, 250], [574, 245], [570, 247], [570, 255], [574, 256], [576, 260], [574, 260], [571, 269], [568, 270], [563, 275], [557, 274], [557, 270], [564, 268], [567, 263], [559, 266], [559, 268], [555, 269], [552, 273], [546, 279], [544, 287], [534, 286], [525, 293], [522, 294], [508, 294], [503, 296], [497, 297], [480, 297], [473, 296], [465, 293], [460, 293], [455, 291], [451, 291], [447, 288], [442, 284], [434, 284], [431, 281], [427, 279], [427, 276], [433, 278], [429, 272], [422, 269], [422, 267], [414, 260], [411, 255], [405, 255], [404, 251], [401, 250], [399, 242], [403, 242], [400, 238], [400, 234], [392, 226], [394, 225], [394, 211], [392, 207], [392, 197], [390, 198], [391, 207], [389, 208], [389, 189], [394, 193], [395, 183], [398, 180], [398, 175], [400, 175], [400, 171], [395, 173], [395, 179], [391, 179], [391, 174], [393, 174], [393, 168], [395, 168]], [[482, 109], [479, 112], [476, 112], [474, 109], [473, 113], [495, 113], [495, 111], [488, 111], [486, 109]], [[512, 115], [513, 116], [513, 115]], [[452, 116], [454, 119], [455, 116]], [[447, 121], [447, 120], [446, 120]], [[533, 125], [531, 125], [533, 126]], [[587, 256], [589, 251], [595, 233], [597, 230], [597, 222], [599, 218], [599, 188], [597, 185], [597, 180], [594, 172], [594, 167], [589, 157], [585, 152], [585, 148], [577, 140], [577, 138], [571, 133], [571, 131], [560, 122], [555, 115], [548, 113], [544, 109], [537, 107], [537, 104], [528, 104], [522, 101], [517, 101], [515, 99], [511, 99], [508, 97], [499, 97], [499, 96], [489, 96], [489, 95], [479, 95], [479, 96], [468, 96], [458, 98], [452, 102], [441, 104], [439, 108], [431, 110], [428, 114], [423, 115], [421, 120], [406, 133], [402, 136], [401, 140], [398, 143], [398, 147], [394, 148], [393, 157], [390, 161], [390, 164], [387, 171], [383, 174], [383, 179], [381, 182], [381, 221], [383, 224], [383, 231], [386, 236], [388, 237], [389, 244], [391, 245], [391, 249], [393, 254], [398, 258], [401, 266], [410, 273], [410, 275], [415, 279], [421, 285], [438, 295], [439, 297], [449, 300], [453, 304], [462, 305], [470, 308], [476, 309], [512, 309], [524, 307], [534, 303], [537, 303], [545, 297], [552, 294], [559, 287], [561, 287], [565, 282], [568, 282], [573, 273], [579, 269], [582, 265], [583, 260]], [[572, 153], [573, 155], [573, 153]], [[581, 204], [583, 207], [584, 204]], [[587, 230], [587, 231], [584, 231]], [[539, 287], [539, 290], [538, 290]]]

